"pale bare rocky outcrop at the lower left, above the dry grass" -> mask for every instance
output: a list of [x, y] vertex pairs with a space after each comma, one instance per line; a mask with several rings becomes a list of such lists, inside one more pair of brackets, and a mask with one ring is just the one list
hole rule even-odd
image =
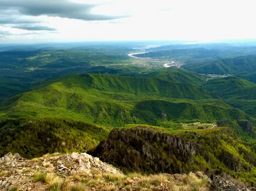
[[0, 158], [0, 190], [47, 190], [44, 184], [33, 182], [32, 176], [38, 172], [50, 172], [61, 177], [79, 175], [92, 176], [92, 170], [111, 174], [122, 174], [112, 165], [103, 163], [99, 158], [87, 153], [46, 154], [41, 158], [25, 159], [18, 153], [8, 153]]

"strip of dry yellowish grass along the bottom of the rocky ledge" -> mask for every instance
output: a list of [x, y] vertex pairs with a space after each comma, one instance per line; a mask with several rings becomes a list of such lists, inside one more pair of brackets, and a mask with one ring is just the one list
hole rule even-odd
[[178, 180], [173, 175], [141, 175], [138, 173], [123, 175], [111, 174], [94, 169], [94, 174], [83, 171], [79, 174], [61, 178], [53, 172], [36, 172], [34, 181], [42, 181], [47, 184], [50, 191], [82, 191], [103, 190], [114, 191], [119, 188], [130, 190], [159, 190], [162, 185], [169, 190], [206, 191], [209, 190], [209, 182], [203, 177], [203, 172], [181, 175]]

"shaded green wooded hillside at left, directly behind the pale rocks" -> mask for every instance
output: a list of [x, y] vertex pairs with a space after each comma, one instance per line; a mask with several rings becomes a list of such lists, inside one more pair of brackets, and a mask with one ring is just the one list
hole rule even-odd
[[87, 152], [110, 128], [57, 118], [18, 118], [0, 121], [0, 156], [8, 152], [40, 157], [53, 152]]

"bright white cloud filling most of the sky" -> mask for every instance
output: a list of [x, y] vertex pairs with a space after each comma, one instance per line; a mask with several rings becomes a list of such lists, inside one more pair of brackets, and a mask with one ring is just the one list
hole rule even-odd
[[[59, 33], [39, 32], [28, 39], [58, 40], [214, 40], [256, 38], [254, 1], [73, 0], [98, 3], [92, 15], [120, 19], [83, 21], [56, 16], [26, 16]], [[69, 14], [67, 14], [69, 15]], [[6, 25], [6, 24], [5, 24]], [[11, 26], [11, 25], [9, 25]], [[26, 30], [18, 30], [27, 33]], [[15, 31], [10, 31], [15, 35]], [[22, 37], [23, 38], [23, 37]], [[1, 37], [0, 37], [1, 40]], [[18, 37], [17, 37], [18, 40]]]

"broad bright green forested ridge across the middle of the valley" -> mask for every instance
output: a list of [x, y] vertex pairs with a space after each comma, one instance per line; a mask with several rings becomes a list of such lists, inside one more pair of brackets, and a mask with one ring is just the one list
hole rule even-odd
[[[198, 86], [170, 80], [178, 79], [175, 76], [178, 74], [177, 71], [177, 74], [147, 78], [69, 75], [2, 100], [0, 115], [72, 118], [107, 126], [247, 118], [241, 110], [212, 104], [216, 97]], [[211, 102], [207, 103], [208, 99]], [[199, 100], [204, 100], [203, 104], [198, 104]]]

